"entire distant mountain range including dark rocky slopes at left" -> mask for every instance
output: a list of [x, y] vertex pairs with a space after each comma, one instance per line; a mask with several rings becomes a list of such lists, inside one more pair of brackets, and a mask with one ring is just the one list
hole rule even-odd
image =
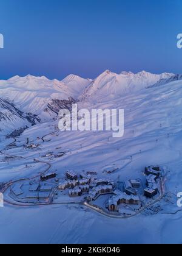
[[0, 132], [4, 136], [15, 129], [49, 121], [61, 108], [69, 108], [76, 101], [109, 101], [179, 79], [182, 77], [171, 73], [116, 74], [106, 70], [96, 79], [71, 74], [61, 81], [30, 75], [0, 80]]

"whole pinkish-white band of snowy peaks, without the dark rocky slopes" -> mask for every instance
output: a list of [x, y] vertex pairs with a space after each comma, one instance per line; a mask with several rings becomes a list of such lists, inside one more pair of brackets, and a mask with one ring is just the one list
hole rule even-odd
[[[0, 80], [1, 98], [13, 102], [22, 112], [39, 115], [42, 121], [53, 117], [53, 112], [47, 112], [53, 100], [86, 99], [90, 96], [105, 98], [121, 96], [121, 94], [156, 84], [161, 79], [169, 79], [174, 74], [160, 75], [142, 71], [137, 74], [122, 72], [115, 74], [105, 71], [95, 80], [83, 79], [73, 74], [62, 81], [49, 80], [45, 76], [15, 76], [8, 80]], [[56, 106], [57, 107], [57, 106]]]

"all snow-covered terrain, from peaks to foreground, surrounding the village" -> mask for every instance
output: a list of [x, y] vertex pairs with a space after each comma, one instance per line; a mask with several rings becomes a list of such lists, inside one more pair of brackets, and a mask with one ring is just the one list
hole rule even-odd
[[[177, 193], [182, 191], [182, 80], [173, 78], [167, 73], [105, 71], [95, 80], [72, 75], [61, 82], [32, 76], [0, 81], [1, 112], [9, 112], [0, 121], [0, 183], [38, 176], [47, 168], [45, 162], [59, 177], [68, 169], [96, 171], [112, 180], [136, 179], [149, 165], [166, 171], [165, 197], [157, 203], [161, 211], [155, 215], [114, 219], [80, 205], [21, 207], [5, 202], [0, 208], [1, 243], [181, 243]], [[54, 104], [56, 99], [60, 105]], [[124, 137], [113, 138], [107, 131], [59, 131], [56, 112], [73, 99], [79, 100], [78, 108], [123, 108]], [[35, 123], [25, 113], [35, 115]], [[4, 140], [13, 128], [25, 126], [29, 128], [15, 141]], [[27, 138], [38, 148], [24, 148]], [[16, 146], [7, 148], [10, 143]], [[49, 152], [65, 154], [42, 158]], [[4, 154], [18, 158], [4, 161]], [[106, 168], [116, 171], [107, 174]]]

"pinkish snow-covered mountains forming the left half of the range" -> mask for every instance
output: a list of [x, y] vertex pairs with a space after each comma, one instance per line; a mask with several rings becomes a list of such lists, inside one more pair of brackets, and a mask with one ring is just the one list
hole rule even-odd
[[90, 84], [89, 79], [68, 76], [63, 81], [49, 80], [46, 77], [15, 76], [0, 80], [1, 97], [12, 101], [23, 112], [39, 115], [42, 121], [53, 117], [53, 112], [44, 111], [54, 99], [76, 99], [83, 88]]

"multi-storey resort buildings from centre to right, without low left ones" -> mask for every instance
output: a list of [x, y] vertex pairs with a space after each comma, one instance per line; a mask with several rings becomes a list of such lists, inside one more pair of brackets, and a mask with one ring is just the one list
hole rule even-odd
[[[69, 196], [81, 196], [83, 193], [89, 193], [87, 201], [95, 201], [98, 196], [103, 194], [115, 193], [115, 182], [108, 179], [91, 179], [89, 175], [81, 173], [79, 175], [73, 171], [66, 172], [66, 178], [62, 183], [59, 183], [59, 190], [69, 189]], [[152, 198], [158, 193], [157, 179], [160, 177], [159, 166], [149, 166], [145, 168], [147, 175], [147, 188], [144, 189], [144, 196]], [[130, 179], [124, 182], [124, 191], [109, 200], [109, 210], [118, 211], [118, 205], [124, 204], [140, 204], [140, 198], [137, 196], [137, 189], [141, 187], [139, 179]]]

